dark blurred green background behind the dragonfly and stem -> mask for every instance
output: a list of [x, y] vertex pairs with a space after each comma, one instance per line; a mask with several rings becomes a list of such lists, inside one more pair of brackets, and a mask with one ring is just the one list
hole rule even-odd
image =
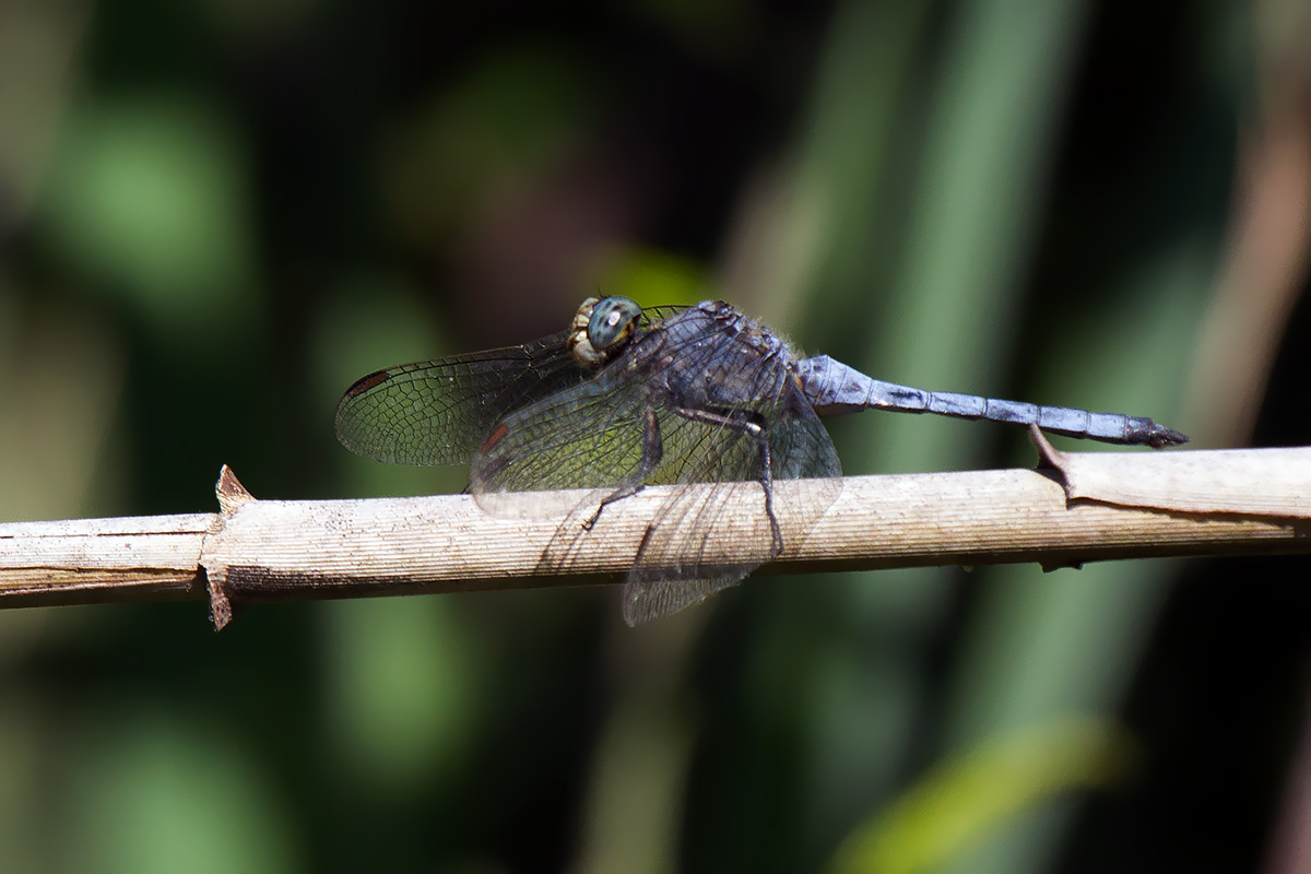
[[[1295, 3], [3, 5], [0, 519], [210, 511], [222, 464], [459, 490], [341, 449], [341, 390], [598, 290], [1304, 444], [1306, 45]], [[1032, 464], [831, 431], [850, 474]], [[1295, 870], [1306, 569], [756, 575], [637, 632], [603, 590], [0, 615], [0, 856]]]

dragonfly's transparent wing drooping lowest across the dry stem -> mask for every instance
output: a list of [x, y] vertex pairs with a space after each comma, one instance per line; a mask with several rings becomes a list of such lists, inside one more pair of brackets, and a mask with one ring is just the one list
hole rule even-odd
[[[810, 405], [791, 387], [783, 402], [763, 414], [767, 422], [772, 474], [773, 528], [762, 484], [760, 444], [728, 426], [714, 428], [682, 419], [671, 427], [679, 452], [679, 482], [718, 482], [714, 489], [675, 493], [661, 507], [642, 541], [623, 592], [628, 625], [676, 613], [734, 586], [772, 560], [788, 544], [805, 537], [842, 491], [842, 469], [832, 440]], [[789, 481], [821, 478], [804, 493]], [[760, 512], [749, 520], [725, 514], [738, 501], [759, 501]], [[745, 528], [742, 525], [746, 525]], [[707, 558], [713, 545], [733, 537], [738, 560], [716, 563]]]

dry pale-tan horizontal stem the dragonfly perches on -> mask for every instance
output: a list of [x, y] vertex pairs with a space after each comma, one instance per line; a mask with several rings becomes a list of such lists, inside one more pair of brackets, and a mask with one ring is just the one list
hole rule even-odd
[[[1058, 470], [848, 477], [829, 511], [768, 569], [1054, 567], [1311, 550], [1311, 449], [1065, 456], [1044, 446], [1044, 455]], [[1108, 474], [1108, 465], [1121, 466]], [[1084, 485], [1075, 493], [1078, 484]], [[1109, 484], [1106, 497], [1099, 498], [1099, 484]], [[788, 490], [815, 485], [776, 484], [780, 506]], [[577, 519], [561, 527], [558, 516], [490, 516], [468, 495], [256, 501], [224, 468], [219, 514], [0, 524], [0, 608], [207, 594], [222, 628], [229, 599], [617, 582], [666, 489], [610, 504], [595, 528], [582, 532]], [[759, 489], [739, 491], [712, 544], [725, 562], [767, 524]], [[556, 494], [569, 506], [586, 493]], [[544, 562], [548, 553], [555, 557]]]

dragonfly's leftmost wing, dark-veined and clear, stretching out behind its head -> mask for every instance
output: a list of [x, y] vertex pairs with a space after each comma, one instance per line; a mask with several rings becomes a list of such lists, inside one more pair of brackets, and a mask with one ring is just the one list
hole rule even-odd
[[524, 346], [389, 367], [337, 405], [337, 439], [389, 464], [467, 464], [507, 411], [577, 385], [568, 332]]

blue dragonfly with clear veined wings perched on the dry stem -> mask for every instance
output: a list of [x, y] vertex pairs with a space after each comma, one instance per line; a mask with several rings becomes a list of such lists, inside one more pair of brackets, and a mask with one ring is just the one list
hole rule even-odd
[[[804, 537], [842, 491], [819, 417], [869, 409], [1125, 446], [1188, 440], [1150, 418], [876, 380], [827, 355], [805, 358], [724, 301], [644, 309], [627, 297], [589, 297], [568, 328], [522, 346], [370, 373], [346, 389], [336, 430], [343, 447], [376, 461], [468, 464], [469, 491], [493, 515], [522, 512], [526, 498], [531, 506], [520, 493], [586, 489], [557, 533], [565, 542], [645, 486], [712, 484], [673, 489], [656, 510], [621, 596], [624, 621], [637, 625], [741, 582]], [[817, 482], [775, 487], [801, 478]], [[725, 563], [711, 545], [743, 493], [755, 494], [767, 524]]]

